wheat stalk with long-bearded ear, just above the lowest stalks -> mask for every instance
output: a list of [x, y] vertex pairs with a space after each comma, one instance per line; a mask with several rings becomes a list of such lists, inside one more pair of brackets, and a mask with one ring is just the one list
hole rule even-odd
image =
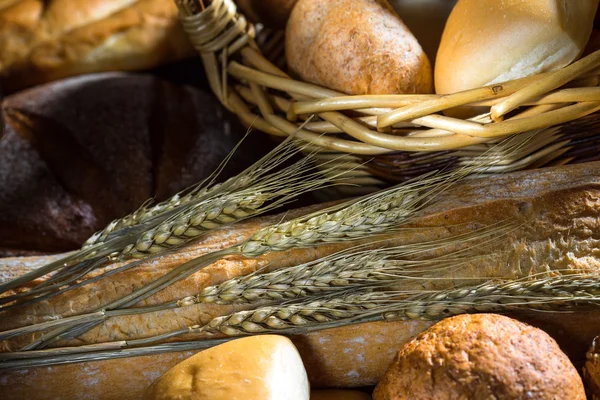
[[[457, 270], [466, 263], [476, 262], [477, 250], [500, 240], [515, 224], [506, 222], [469, 231], [451, 238], [424, 243], [403, 244], [378, 248], [377, 243], [358, 246], [322, 259], [283, 268], [268, 273], [254, 273], [209, 286], [195, 296], [187, 296], [150, 307], [114, 311], [97, 311], [0, 332], [0, 340], [47, 330], [100, 322], [124, 315], [139, 315], [160, 310], [187, 307], [200, 303], [256, 304], [279, 302], [358, 287], [379, 287], [404, 282], [445, 279], [438, 278], [444, 270]], [[473, 243], [482, 241], [481, 243]], [[382, 242], [381, 245], [384, 245]], [[470, 244], [466, 249], [453, 251], [456, 245]], [[374, 250], [373, 248], [377, 248]], [[366, 249], [365, 249], [366, 248]], [[428, 257], [428, 253], [443, 251], [445, 255]], [[489, 255], [488, 255], [489, 256]], [[260, 271], [258, 271], [260, 272]], [[481, 280], [482, 278], [474, 278]], [[420, 283], [418, 283], [420, 285]]]

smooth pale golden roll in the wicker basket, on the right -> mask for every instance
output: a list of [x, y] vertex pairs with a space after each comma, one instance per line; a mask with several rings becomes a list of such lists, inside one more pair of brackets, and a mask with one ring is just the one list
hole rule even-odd
[[598, 0], [459, 0], [437, 53], [436, 92], [568, 65], [585, 48], [597, 7]]

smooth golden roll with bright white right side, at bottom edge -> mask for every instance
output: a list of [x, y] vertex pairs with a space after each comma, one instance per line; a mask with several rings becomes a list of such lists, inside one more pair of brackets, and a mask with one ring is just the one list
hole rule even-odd
[[308, 400], [306, 370], [283, 336], [233, 340], [177, 364], [144, 393], [145, 400]]

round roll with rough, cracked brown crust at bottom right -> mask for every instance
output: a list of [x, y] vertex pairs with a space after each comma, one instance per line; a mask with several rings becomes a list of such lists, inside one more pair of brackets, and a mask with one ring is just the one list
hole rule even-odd
[[407, 343], [373, 393], [400, 399], [585, 399], [544, 331], [494, 314], [445, 319]]

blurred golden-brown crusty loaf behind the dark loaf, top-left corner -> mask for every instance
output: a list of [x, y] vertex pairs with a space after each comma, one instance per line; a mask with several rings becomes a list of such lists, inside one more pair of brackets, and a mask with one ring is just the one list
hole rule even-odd
[[173, 1], [23, 0], [0, 8], [4, 91], [194, 55]]

